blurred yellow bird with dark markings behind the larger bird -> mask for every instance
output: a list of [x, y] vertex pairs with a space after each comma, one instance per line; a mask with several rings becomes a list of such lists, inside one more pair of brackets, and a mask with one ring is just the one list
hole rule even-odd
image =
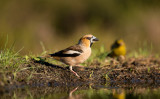
[[126, 45], [122, 39], [116, 40], [111, 46], [111, 52], [108, 57], [119, 57], [126, 55]]

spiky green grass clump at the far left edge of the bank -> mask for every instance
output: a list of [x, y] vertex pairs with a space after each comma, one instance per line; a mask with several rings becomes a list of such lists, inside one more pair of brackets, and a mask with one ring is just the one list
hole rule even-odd
[[[23, 50], [23, 48], [18, 51], [14, 51], [15, 42], [9, 48], [7, 48], [7, 44], [8, 36], [5, 46], [0, 50], [0, 76], [1, 81], [4, 83], [7, 83], [11, 79], [16, 80], [17, 73], [25, 69], [22, 68], [22, 64], [27, 62], [23, 56], [19, 55], [19, 52]], [[11, 77], [9, 75], [13, 76]]]

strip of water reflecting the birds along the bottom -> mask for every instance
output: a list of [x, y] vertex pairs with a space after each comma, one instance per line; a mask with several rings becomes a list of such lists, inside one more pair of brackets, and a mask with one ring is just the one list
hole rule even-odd
[[12, 86], [1, 99], [160, 99], [157, 86]]

